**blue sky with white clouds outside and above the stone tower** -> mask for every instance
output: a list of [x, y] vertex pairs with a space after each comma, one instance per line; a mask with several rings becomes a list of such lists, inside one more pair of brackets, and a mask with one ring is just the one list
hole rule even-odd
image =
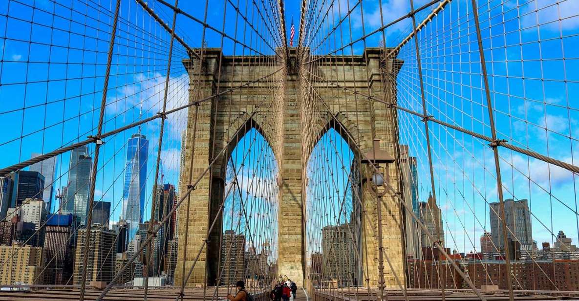
[[[158, 2], [149, 2], [163, 20], [171, 22], [170, 10]], [[334, 21], [345, 15], [348, 5], [355, 3], [349, 2], [336, 0], [331, 9]], [[415, 7], [425, 2], [415, 1]], [[501, 5], [501, 1], [478, 1], [498, 135], [512, 144], [579, 165], [576, 163], [579, 159], [576, 155], [579, 5], [574, 0], [503, 2]], [[225, 25], [224, 3], [227, 3]], [[490, 135], [469, 3], [453, 1], [419, 34], [426, 103], [428, 112], [435, 118]], [[236, 14], [229, 2], [211, 1], [210, 4], [207, 23], [219, 30], [224, 28], [229, 36], [246, 42], [248, 47], [234, 45], [230, 39], [222, 42], [220, 35], [207, 30], [205, 41], [209, 47], [222, 46], [226, 54], [273, 53], [241, 17], [237, 18], [236, 26]], [[96, 9], [98, 5], [102, 7]], [[240, 3], [240, 11], [245, 11], [244, 5]], [[287, 35], [293, 15], [297, 39], [300, 1], [285, 1], [285, 5]], [[353, 39], [360, 37], [362, 31], [370, 32], [382, 24], [378, 0], [363, 1], [362, 5], [364, 23], [359, 9], [351, 14]], [[199, 20], [205, 19], [204, 8], [199, 3], [181, 1], [179, 8]], [[274, 47], [278, 37], [270, 39], [251, 4], [249, 8], [248, 20]], [[408, 11], [408, 1], [383, 1], [384, 23]], [[429, 9], [420, 12], [416, 19], [422, 20], [428, 12]], [[167, 32], [133, 1], [123, 2], [121, 17], [104, 131], [152, 116], [160, 111], [164, 94]], [[58, 1], [56, 5], [48, 0], [0, 1], [0, 118], [10, 120], [9, 126], [0, 131], [0, 166], [9, 166], [30, 158], [32, 152], [48, 152], [96, 133], [111, 19], [109, 2]], [[199, 47], [201, 25], [181, 15], [177, 23], [178, 35], [191, 47]], [[323, 28], [316, 41], [325, 36], [327, 25]], [[397, 45], [410, 31], [409, 19], [388, 28], [386, 45]], [[349, 27], [343, 27], [343, 43], [350, 41], [349, 34]], [[339, 38], [338, 31], [334, 32], [316, 53], [335, 49], [334, 42]], [[370, 36], [367, 46], [378, 46], [380, 39], [380, 34]], [[361, 54], [363, 48], [363, 42], [353, 45], [355, 54]], [[349, 49], [343, 54], [349, 54]], [[181, 63], [183, 58], [186, 58], [184, 47], [175, 43], [168, 108], [186, 101], [189, 79]], [[398, 104], [422, 112], [413, 40], [402, 47], [398, 58], [404, 61], [397, 78]], [[431, 190], [424, 126], [418, 118], [406, 113], [400, 113], [399, 118], [401, 143], [409, 145], [411, 156], [418, 158], [420, 200], [424, 201]], [[167, 119], [162, 148], [163, 182], [177, 184], [185, 120], [184, 111]], [[116, 208], [113, 220], [122, 208], [119, 179], [123, 179], [126, 165], [125, 144], [137, 131], [135, 128], [108, 138], [102, 148], [100, 166], [104, 167], [98, 173], [97, 199], [112, 202]], [[140, 131], [149, 138], [146, 191], [150, 201], [159, 120], [142, 126]], [[448, 227], [446, 233], [453, 233], [446, 240], [453, 244], [456, 241], [456, 248], [470, 251], [470, 240], [478, 247], [483, 229], [490, 230], [485, 200], [496, 201], [492, 151], [486, 142], [436, 124], [431, 124], [431, 138], [437, 199]], [[499, 152], [505, 197], [529, 199], [534, 215], [533, 236], [538, 243], [552, 241], [549, 232], [556, 234], [558, 230], [564, 230], [577, 242], [579, 227], [574, 212], [577, 211], [577, 188], [573, 175], [503, 148]], [[347, 157], [347, 152], [342, 156]], [[58, 157], [56, 187], [66, 185], [68, 162], [68, 154]]]

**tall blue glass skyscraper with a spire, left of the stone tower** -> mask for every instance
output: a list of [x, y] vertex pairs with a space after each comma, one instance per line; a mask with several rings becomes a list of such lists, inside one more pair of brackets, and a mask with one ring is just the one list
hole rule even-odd
[[146, 188], [146, 164], [149, 141], [145, 135], [133, 134], [127, 145], [127, 167], [124, 170], [123, 218], [129, 223], [129, 240], [143, 221]]

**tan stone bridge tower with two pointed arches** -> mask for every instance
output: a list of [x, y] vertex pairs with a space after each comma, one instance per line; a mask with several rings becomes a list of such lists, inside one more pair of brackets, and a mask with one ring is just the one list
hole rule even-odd
[[[308, 135], [303, 135], [305, 114], [316, 116], [314, 120], [320, 123], [320, 131], [334, 128], [351, 145], [355, 155], [368, 152], [375, 148], [373, 141], [379, 141], [379, 147], [395, 156], [397, 147], [397, 120], [395, 111], [388, 105], [372, 101], [367, 97], [356, 93], [346, 93], [343, 87], [325, 85], [317, 87], [317, 93], [327, 107], [317, 107], [320, 112], [312, 112], [312, 107], [305, 107], [302, 99], [304, 89], [302, 76], [306, 74], [296, 60], [296, 49], [290, 49], [288, 67], [268, 67], [262, 64], [259, 57], [223, 56], [221, 49], [204, 49], [201, 61], [184, 61], [190, 76], [190, 101], [199, 101], [199, 104], [189, 108], [186, 144], [184, 151], [184, 166], [192, 164], [192, 175], [188, 168], [182, 168], [181, 182], [188, 183], [189, 179], [197, 179], [203, 175], [195, 190], [190, 194], [190, 200], [185, 200], [179, 207], [179, 251], [178, 264], [175, 271], [175, 283], [182, 282], [182, 263], [185, 260], [185, 271], [195, 263], [187, 285], [194, 286], [207, 281], [208, 284], [217, 282], [218, 255], [219, 255], [219, 232], [221, 231], [221, 218], [219, 210], [225, 190], [225, 163], [226, 159], [217, 160], [212, 168], [208, 168], [214, 156], [223, 156], [228, 152], [222, 152], [227, 142], [239, 139], [249, 129], [255, 128], [270, 142], [278, 164], [278, 259], [277, 274], [285, 274], [298, 284], [307, 280], [306, 269], [306, 232], [305, 232], [305, 186], [307, 178], [305, 166], [312, 149], [312, 141], [305, 141]], [[243, 62], [243, 63], [241, 63]], [[393, 60], [384, 61], [383, 53], [378, 48], [365, 49], [358, 56], [332, 56], [331, 60], [320, 60], [316, 64], [314, 73], [324, 78], [335, 74], [339, 68], [343, 78], [337, 82], [343, 83], [350, 89], [357, 89], [371, 93], [383, 100], [395, 103], [396, 72], [393, 66], [398, 62]], [[345, 72], [342, 72], [345, 71]], [[276, 72], [276, 77], [281, 82], [280, 86], [272, 86], [274, 82], [264, 81], [256, 85], [248, 85], [243, 89], [231, 90], [230, 87], [241, 85]], [[242, 75], [243, 73], [243, 75]], [[243, 76], [243, 79], [241, 78]], [[277, 85], [277, 84], [276, 84]], [[267, 110], [256, 110], [263, 97], [271, 94], [272, 89], [278, 89], [278, 106], [281, 108], [275, 113]], [[207, 99], [208, 96], [219, 91], [228, 91], [218, 97]], [[338, 105], [338, 98], [340, 103]], [[200, 101], [203, 100], [203, 101]], [[239, 105], [241, 100], [241, 104]], [[343, 105], [343, 104], [346, 105]], [[322, 109], [320, 109], [322, 108]], [[267, 116], [267, 114], [277, 116]], [[195, 116], [197, 115], [197, 116]], [[233, 117], [232, 117], [233, 116]], [[355, 117], [354, 117], [355, 116]], [[249, 121], [246, 121], [249, 120]], [[275, 120], [262, 124], [263, 120]], [[251, 123], [251, 124], [243, 124]], [[193, 129], [196, 129], [195, 133]], [[275, 136], [275, 137], [274, 137]], [[195, 140], [195, 149], [191, 149]], [[272, 143], [273, 142], [273, 143]], [[315, 141], [314, 143], [315, 144]], [[228, 148], [235, 145], [230, 144]], [[377, 146], [376, 146], [377, 147]], [[193, 151], [193, 152], [192, 152]], [[229, 152], [230, 153], [230, 152]], [[363, 165], [363, 164], [362, 164]], [[361, 166], [362, 174], [367, 172], [368, 167]], [[206, 172], [208, 169], [211, 172]], [[391, 185], [399, 187], [400, 177], [395, 164], [388, 168]], [[363, 184], [363, 185], [368, 185]], [[368, 271], [367, 278], [375, 287], [379, 280], [379, 244], [378, 219], [376, 215], [376, 197], [366, 193], [362, 189], [361, 201], [364, 203], [365, 218], [362, 219], [363, 232], [367, 248], [364, 249], [364, 270]], [[384, 269], [387, 287], [397, 287], [394, 273], [401, 281], [404, 280], [404, 252], [403, 240], [401, 239], [402, 214], [400, 207], [395, 202], [394, 194], [388, 193], [383, 198], [382, 227], [383, 252], [391, 263], [391, 268]], [[189, 216], [187, 216], [189, 207]], [[186, 219], [189, 229], [186, 231]], [[207, 233], [212, 222], [217, 221], [209, 235]], [[188, 237], [185, 237], [188, 233]], [[186, 252], [185, 252], [186, 241]], [[203, 244], [206, 248], [202, 248]], [[366, 267], [367, 266], [367, 267]], [[392, 272], [394, 271], [394, 273]], [[365, 282], [365, 280], [364, 280]]]

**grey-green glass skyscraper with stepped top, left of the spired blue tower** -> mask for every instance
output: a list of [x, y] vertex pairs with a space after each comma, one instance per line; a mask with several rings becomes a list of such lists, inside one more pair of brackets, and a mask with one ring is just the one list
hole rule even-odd
[[93, 159], [88, 155], [86, 146], [71, 150], [68, 171], [66, 204], [62, 205], [63, 214], [75, 216], [75, 223], [85, 223], [86, 207], [89, 203], [89, 180]]

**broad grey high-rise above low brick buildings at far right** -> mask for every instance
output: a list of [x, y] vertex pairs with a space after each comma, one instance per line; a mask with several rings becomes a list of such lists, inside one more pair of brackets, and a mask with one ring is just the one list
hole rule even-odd
[[[533, 249], [533, 235], [531, 229], [531, 214], [527, 206], [527, 200], [513, 199], [504, 200], [505, 221], [507, 223], [507, 239], [521, 243], [521, 249], [531, 251]], [[503, 222], [499, 218], [501, 214], [500, 203], [489, 204], [490, 233], [493, 243], [497, 248], [504, 249]], [[514, 233], [516, 238], [511, 234]]]

